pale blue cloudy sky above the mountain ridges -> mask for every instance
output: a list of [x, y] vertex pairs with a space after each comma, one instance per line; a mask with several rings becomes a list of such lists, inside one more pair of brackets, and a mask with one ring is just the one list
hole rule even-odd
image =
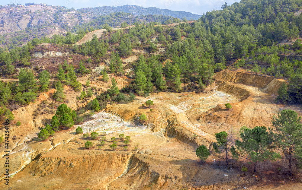
[[203, 14], [213, 9], [221, 9], [224, 2], [231, 5], [239, 0], [1, 0], [0, 5], [25, 3], [45, 3], [54, 6], [64, 6], [67, 8], [86, 8], [100, 6], [122, 6], [139, 5], [142, 7], [157, 7], [170, 9], [173, 11], [188, 11], [194, 14]]

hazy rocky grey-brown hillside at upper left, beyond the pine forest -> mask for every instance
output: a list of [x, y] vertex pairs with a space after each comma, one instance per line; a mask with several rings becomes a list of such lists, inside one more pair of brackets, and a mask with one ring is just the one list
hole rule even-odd
[[51, 38], [53, 35], [65, 35], [66, 32], [84, 33], [98, 30], [108, 24], [109, 27], [121, 27], [124, 24], [171, 24], [179, 19], [165, 15], [150, 14], [136, 17], [130, 13], [108, 13], [94, 16], [92, 12], [66, 9], [51, 5], [10, 5], [0, 6], [0, 48], [12, 49], [21, 46], [33, 38]]

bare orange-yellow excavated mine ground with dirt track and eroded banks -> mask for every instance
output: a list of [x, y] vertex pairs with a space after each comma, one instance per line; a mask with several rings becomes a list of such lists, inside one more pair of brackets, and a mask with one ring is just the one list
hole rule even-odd
[[[10, 153], [13, 188], [1, 183], [1, 189], [237, 188], [243, 184], [265, 189], [259, 183], [252, 185], [255, 178], [240, 177], [239, 170], [221, 165], [218, 154], [201, 163], [195, 149], [201, 144], [209, 147], [217, 131], [237, 131], [243, 125], [270, 127], [271, 116], [288, 109], [273, 104], [282, 81], [237, 71], [219, 72], [214, 79], [207, 93], [158, 93], [108, 106], [81, 125], [83, 133], [98, 132], [96, 140], [76, 135], [77, 126], [42, 142], [30, 140], [37, 134], [33, 131]], [[142, 106], [146, 100], [153, 100], [153, 112]], [[224, 108], [227, 102], [232, 109]], [[300, 106], [290, 108], [302, 115]], [[145, 124], [137, 122], [142, 112], [148, 118]], [[107, 142], [101, 146], [103, 131]], [[117, 149], [112, 151], [110, 139], [121, 133], [131, 137], [128, 150], [123, 150], [123, 140], [117, 140]], [[88, 150], [84, 148], [87, 140], [93, 144]], [[3, 159], [0, 162], [4, 171]]]

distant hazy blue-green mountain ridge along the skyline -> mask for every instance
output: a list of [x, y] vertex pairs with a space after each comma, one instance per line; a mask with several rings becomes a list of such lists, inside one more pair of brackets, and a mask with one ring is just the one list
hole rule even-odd
[[131, 13], [133, 15], [148, 15], [148, 14], [157, 14], [157, 15], [166, 15], [166, 16], [172, 16], [172, 17], [177, 17], [177, 18], [186, 18], [188, 20], [198, 20], [201, 15], [198, 14], [193, 14], [190, 12], [186, 11], [171, 11], [169, 9], [160, 9], [156, 7], [140, 7], [137, 5], [124, 5], [124, 6], [104, 6], [104, 7], [95, 7], [95, 8], [82, 8], [79, 9], [79, 11], [82, 12], [90, 12], [95, 15], [100, 15], [100, 14], [110, 14], [112, 12], [126, 12], [126, 13]]

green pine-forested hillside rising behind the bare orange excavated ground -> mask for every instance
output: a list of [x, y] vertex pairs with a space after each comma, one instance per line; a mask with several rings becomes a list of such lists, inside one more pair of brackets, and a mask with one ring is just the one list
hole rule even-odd
[[[207, 12], [196, 23], [176, 26], [155, 26], [150, 22], [111, 30], [111, 18], [108, 18], [108, 23], [104, 24], [107, 32], [101, 38], [94, 36], [79, 46], [74, 43], [86, 34], [83, 29], [88, 26], [81, 28], [79, 25], [75, 29], [80, 31], [77, 35], [68, 32], [66, 36], [54, 35], [51, 39], [35, 38], [10, 51], [1, 49], [1, 76], [19, 78], [16, 83], [1, 83], [1, 102], [24, 105], [34, 101], [37, 93], [50, 88], [41, 80], [36, 85], [36, 77], [42, 81], [51, 77], [79, 91], [82, 85], [76, 82], [77, 76], [87, 74], [101, 75], [102, 80], [108, 80], [108, 74], [131, 80], [120, 95], [108, 91], [98, 98], [99, 101], [120, 102], [125, 100], [124, 93], [131, 92], [140, 96], [162, 91], [202, 92], [212, 83], [214, 72], [233, 64], [230, 69], [241, 67], [255, 74], [290, 78], [289, 88], [283, 90], [285, 95], [281, 100], [302, 103], [301, 9], [302, 2], [296, 0], [242, 0], [230, 6], [223, 5], [223, 10]], [[97, 20], [90, 25], [96, 23]], [[61, 61], [34, 58], [34, 52], [50, 51], [48, 46], [39, 45], [41, 43], [53, 43], [52, 48], [69, 55]], [[130, 56], [137, 59], [122, 61]], [[45, 64], [39, 65], [42, 60]], [[108, 67], [102, 72], [92, 72], [104, 62], [110, 62]], [[26, 80], [22, 81], [24, 76], [33, 78], [33, 84], [28, 86]], [[116, 85], [115, 81], [112, 85]], [[54, 84], [52, 87], [57, 91], [62, 88]]]

